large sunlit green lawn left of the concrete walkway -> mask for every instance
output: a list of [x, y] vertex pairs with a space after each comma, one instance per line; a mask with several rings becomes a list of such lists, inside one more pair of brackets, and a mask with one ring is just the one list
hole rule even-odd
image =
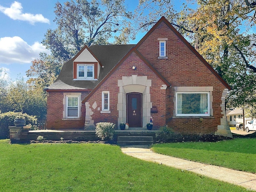
[[0, 140], [0, 191], [247, 191], [146, 162], [107, 144], [9, 144]]

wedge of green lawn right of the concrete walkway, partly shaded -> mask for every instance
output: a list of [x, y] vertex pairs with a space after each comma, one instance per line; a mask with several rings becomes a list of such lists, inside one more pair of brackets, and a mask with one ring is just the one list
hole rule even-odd
[[256, 173], [255, 138], [155, 144], [152, 150], [168, 156]]

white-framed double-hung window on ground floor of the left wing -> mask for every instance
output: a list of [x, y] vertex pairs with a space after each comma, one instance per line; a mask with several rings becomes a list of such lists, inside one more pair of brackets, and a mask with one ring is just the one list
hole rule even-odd
[[66, 96], [66, 118], [79, 118], [79, 96]]

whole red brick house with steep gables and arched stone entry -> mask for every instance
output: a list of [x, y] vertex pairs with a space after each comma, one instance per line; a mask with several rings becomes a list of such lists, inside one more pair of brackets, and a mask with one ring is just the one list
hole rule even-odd
[[[120, 122], [183, 134], [231, 134], [230, 86], [162, 17], [136, 45], [85, 46], [49, 86], [47, 127], [90, 130]], [[232, 137], [232, 135], [231, 135]]]

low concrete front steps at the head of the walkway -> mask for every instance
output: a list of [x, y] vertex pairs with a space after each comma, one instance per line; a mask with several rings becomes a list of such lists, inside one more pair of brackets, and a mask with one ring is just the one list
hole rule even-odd
[[117, 144], [120, 146], [133, 145], [151, 145], [153, 144], [152, 136], [118, 136]]

